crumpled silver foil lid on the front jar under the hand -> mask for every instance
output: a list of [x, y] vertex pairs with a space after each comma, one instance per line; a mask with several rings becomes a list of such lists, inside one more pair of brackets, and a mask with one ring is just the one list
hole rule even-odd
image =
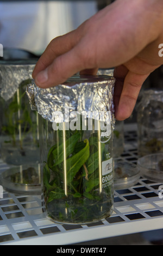
[[44, 119], [54, 122], [55, 111], [65, 112], [65, 108], [77, 111], [98, 111], [111, 113], [114, 120], [114, 84], [115, 78], [104, 75], [81, 75], [69, 78], [56, 87], [42, 89], [34, 80], [27, 86], [27, 95], [32, 110], [37, 111]]

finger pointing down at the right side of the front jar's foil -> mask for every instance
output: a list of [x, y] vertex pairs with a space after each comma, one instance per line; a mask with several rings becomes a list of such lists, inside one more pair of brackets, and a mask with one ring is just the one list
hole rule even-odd
[[[123, 84], [120, 100], [115, 107], [115, 117], [117, 120], [125, 120], [130, 117], [137, 97], [139, 95], [141, 86], [145, 82], [148, 75], [139, 75], [128, 71]], [[117, 102], [116, 102], [117, 103]]]

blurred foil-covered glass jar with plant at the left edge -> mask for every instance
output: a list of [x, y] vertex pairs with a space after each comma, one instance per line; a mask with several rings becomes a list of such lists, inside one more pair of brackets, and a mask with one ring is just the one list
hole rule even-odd
[[38, 113], [31, 112], [26, 87], [35, 64], [0, 62], [3, 113], [1, 154], [11, 165], [39, 163]]

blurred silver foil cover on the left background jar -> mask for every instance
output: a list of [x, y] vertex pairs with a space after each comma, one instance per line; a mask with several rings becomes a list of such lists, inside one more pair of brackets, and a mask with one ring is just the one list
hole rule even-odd
[[11, 99], [21, 82], [31, 79], [36, 61], [0, 62], [0, 95], [5, 101]]

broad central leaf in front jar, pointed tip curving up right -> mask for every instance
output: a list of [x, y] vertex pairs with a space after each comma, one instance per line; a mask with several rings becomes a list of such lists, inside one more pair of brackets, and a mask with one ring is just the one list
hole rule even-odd
[[70, 183], [74, 176], [77, 174], [78, 170], [83, 166], [86, 160], [89, 158], [90, 150], [89, 150], [89, 141], [88, 139], [84, 140], [86, 144], [85, 147], [80, 150], [76, 155], [67, 159], [67, 180]]

